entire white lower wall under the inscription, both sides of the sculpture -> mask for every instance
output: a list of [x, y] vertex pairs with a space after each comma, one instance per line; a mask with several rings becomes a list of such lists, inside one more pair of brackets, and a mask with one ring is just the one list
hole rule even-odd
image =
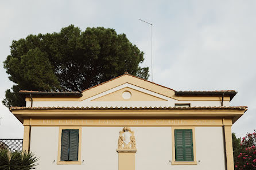
[[[122, 127], [83, 127], [81, 165], [57, 165], [59, 127], [32, 126], [30, 149], [40, 161], [37, 169], [118, 170], [117, 141]], [[171, 165], [170, 127], [131, 127], [137, 153], [135, 169], [220, 169], [224, 170], [221, 127], [196, 127], [197, 165]], [[55, 161], [54, 161], [55, 160]]]

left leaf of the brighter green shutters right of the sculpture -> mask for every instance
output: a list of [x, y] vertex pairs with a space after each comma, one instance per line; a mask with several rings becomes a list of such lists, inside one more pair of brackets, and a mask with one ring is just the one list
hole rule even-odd
[[175, 160], [176, 161], [183, 161], [183, 130], [176, 129], [174, 132], [175, 136]]

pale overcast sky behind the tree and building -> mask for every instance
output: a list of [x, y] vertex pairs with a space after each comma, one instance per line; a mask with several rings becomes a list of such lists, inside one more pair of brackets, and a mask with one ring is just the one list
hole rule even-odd
[[[249, 106], [232, 126], [238, 136], [256, 129], [256, 1], [1, 1], [0, 98], [13, 85], [2, 62], [11, 41], [75, 25], [110, 27], [145, 53], [154, 82], [174, 90], [238, 92], [232, 106]], [[151, 73], [151, 70], [150, 70]], [[151, 77], [149, 78], [151, 80]], [[0, 138], [23, 138], [23, 125], [0, 104]]]

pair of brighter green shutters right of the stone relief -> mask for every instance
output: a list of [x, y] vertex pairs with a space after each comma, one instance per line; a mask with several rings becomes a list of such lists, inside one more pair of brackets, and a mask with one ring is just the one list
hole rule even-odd
[[192, 129], [175, 129], [175, 160], [193, 161]]

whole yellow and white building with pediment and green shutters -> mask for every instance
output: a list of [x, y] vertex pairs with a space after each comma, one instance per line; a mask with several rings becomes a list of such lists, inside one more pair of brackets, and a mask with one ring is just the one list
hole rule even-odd
[[79, 92], [21, 91], [11, 107], [37, 169], [234, 169], [234, 90], [177, 92], [128, 73]]

